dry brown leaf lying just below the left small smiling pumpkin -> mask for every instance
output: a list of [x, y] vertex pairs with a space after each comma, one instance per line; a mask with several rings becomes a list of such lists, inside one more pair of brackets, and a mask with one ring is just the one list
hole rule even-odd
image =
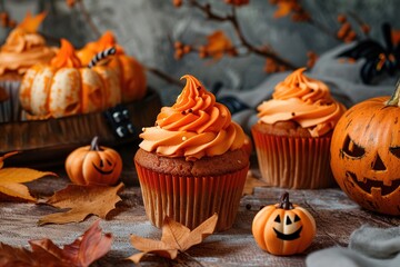
[[47, 215], [40, 218], [38, 224], [79, 222], [89, 215], [106, 219], [106, 216], [116, 208], [116, 204], [122, 200], [118, 196], [122, 187], [122, 182], [116, 187], [69, 185], [46, 201], [56, 208], [69, 208], [69, 210]]

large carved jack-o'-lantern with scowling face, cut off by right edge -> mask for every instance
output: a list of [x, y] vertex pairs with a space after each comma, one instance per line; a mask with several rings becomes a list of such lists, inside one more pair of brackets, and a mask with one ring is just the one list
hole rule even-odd
[[350, 108], [331, 142], [331, 168], [340, 188], [361, 207], [400, 215], [400, 83], [392, 97]]

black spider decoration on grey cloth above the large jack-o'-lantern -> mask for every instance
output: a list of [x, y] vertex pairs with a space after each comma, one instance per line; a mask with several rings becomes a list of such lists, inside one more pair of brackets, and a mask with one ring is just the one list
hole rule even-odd
[[366, 59], [360, 70], [360, 76], [364, 83], [372, 83], [374, 78], [384, 73], [394, 76], [396, 71], [400, 68], [400, 46], [393, 44], [389, 23], [382, 24], [382, 32], [386, 47], [377, 41], [367, 39], [338, 56], [356, 60]]

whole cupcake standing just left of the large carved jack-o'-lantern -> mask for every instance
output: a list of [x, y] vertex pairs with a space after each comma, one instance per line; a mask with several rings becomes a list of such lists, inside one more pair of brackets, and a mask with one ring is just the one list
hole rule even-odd
[[329, 167], [333, 127], [346, 111], [322, 81], [298, 69], [258, 106], [251, 127], [262, 180], [269, 186], [314, 189], [334, 185]]

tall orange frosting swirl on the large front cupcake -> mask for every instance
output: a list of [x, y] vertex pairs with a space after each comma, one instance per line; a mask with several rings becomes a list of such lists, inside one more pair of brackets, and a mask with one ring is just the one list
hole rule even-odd
[[231, 120], [228, 108], [192, 76], [172, 107], [161, 108], [156, 126], [140, 134], [140, 148], [167, 157], [197, 160], [243, 146], [244, 132]]

